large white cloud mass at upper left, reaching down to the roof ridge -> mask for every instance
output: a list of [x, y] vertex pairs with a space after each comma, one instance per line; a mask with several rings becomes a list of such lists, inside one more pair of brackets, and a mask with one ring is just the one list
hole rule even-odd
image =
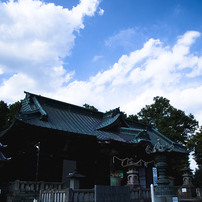
[[74, 72], [64, 69], [63, 59], [71, 54], [84, 17], [93, 16], [98, 5], [81, 0], [68, 10], [39, 0], [0, 2], [0, 74], [15, 74], [1, 84], [1, 99], [13, 102], [13, 91], [54, 91], [69, 82]]

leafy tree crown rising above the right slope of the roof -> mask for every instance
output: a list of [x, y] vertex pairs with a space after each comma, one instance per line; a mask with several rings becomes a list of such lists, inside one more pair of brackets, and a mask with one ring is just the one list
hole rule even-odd
[[174, 108], [168, 99], [159, 96], [154, 97], [154, 103], [142, 108], [137, 116], [140, 122], [153, 125], [160, 133], [183, 145], [187, 145], [198, 128], [198, 121], [192, 114], [186, 115]]

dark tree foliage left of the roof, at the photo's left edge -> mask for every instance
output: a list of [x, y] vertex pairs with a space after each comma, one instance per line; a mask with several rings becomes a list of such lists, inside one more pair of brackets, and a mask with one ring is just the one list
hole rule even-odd
[[14, 120], [20, 102], [7, 105], [4, 101], [0, 101], [0, 131], [8, 128]]

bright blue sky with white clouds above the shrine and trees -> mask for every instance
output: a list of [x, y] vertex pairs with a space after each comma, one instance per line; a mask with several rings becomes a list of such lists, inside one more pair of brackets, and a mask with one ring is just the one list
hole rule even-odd
[[201, 0], [0, 1], [0, 100], [24, 91], [136, 114], [163, 96], [202, 123]]

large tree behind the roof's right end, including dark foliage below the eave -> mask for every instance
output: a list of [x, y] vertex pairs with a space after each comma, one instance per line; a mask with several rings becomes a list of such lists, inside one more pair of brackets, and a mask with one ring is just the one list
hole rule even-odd
[[[189, 146], [188, 142], [198, 128], [198, 122], [192, 114], [174, 108], [170, 101], [163, 97], [154, 97], [154, 103], [146, 105], [137, 114], [138, 121], [153, 125], [160, 133], [170, 140]], [[175, 183], [182, 183], [180, 170], [188, 164], [188, 155], [168, 157], [168, 175], [175, 178]]]

